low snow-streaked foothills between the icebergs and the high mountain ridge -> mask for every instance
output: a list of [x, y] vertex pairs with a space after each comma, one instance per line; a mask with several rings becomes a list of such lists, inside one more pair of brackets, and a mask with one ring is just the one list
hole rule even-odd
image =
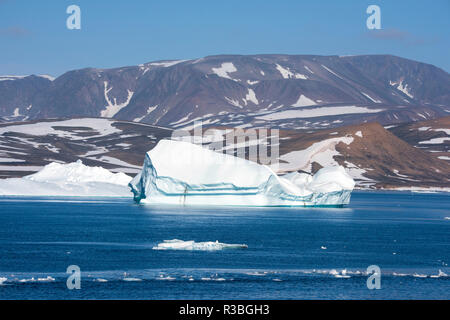
[[[278, 138], [275, 131], [265, 136], [256, 130], [258, 135], [247, 142], [244, 136], [230, 139], [230, 135], [245, 135], [243, 130], [204, 128], [202, 142], [217, 152], [231, 154], [245, 147], [247, 159], [250, 147], [270, 150], [272, 143], [279, 143], [279, 173], [314, 173], [321, 167], [340, 165], [357, 187], [442, 188], [448, 185], [443, 177], [450, 175], [445, 158], [450, 148], [446, 140], [449, 125], [447, 118], [389, 128], [396, 135], [375, 123], [314, 132], [280, 130]], [[51, 162], [71, 163], [78, 159], [88, 166], [134, 176], [142, 167], [145, 153], [172, 133], [151, 125], [99, 118], [0, 124], [0, 178], [23, 177]], [[433, 139], [443, 143], [420, 143]], [[251, 160], [266, 163], [261, 158]]]

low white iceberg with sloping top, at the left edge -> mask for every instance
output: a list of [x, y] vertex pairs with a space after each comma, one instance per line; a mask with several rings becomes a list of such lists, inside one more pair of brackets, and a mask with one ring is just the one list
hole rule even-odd
[[0, 179], [0, 196], [131, 197], [131, 177], [81, 160], [52, 162], [23, 178]]

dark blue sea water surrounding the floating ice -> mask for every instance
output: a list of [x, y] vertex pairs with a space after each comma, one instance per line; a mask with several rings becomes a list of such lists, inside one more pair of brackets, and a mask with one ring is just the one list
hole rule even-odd
[[[0, 299], [450, 299], [449, 217], [449, 194], [408, 192], [335, 209], [0, 198]], [[152, 249], [169, 239], [248, 248]]]

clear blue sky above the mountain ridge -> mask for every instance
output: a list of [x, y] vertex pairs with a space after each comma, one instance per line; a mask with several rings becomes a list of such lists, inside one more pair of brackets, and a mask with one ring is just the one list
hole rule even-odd
[[[81, 8], [81, 30], [66, 8]], [[382, 30], [366, 27], [381, 8]], [[394, 54], [450, 71], [450, 1], [0, 0], [0, 74], [214, 54]]]

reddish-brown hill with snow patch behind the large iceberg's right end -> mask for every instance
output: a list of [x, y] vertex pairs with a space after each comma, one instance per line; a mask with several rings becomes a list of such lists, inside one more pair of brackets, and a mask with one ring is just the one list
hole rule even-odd
[[[347, 126], [310, 134], [285, 133], [285, 135], [291, 139], [282, 143], [280, 150], [282, 155], [294, 150], [305, 150], [317, 141], [322, 143], [330, 141], [328, 145], [324, 144], [322, 155], [335, 150], [336, 155], [332, 158], [348, 168], [360, 186], [392, 188], [450, 185], [450, 165], [446, 161], [409, 145], [378, 123]], [[337, 138], [346, 140], [333, 142], [333, 139]], [[319, 157], [319, 161], [315, 161], [316, 165], [311, 167], [312, 171], [323, 165], [321, 161], [323, 162], [323, 159]]]

